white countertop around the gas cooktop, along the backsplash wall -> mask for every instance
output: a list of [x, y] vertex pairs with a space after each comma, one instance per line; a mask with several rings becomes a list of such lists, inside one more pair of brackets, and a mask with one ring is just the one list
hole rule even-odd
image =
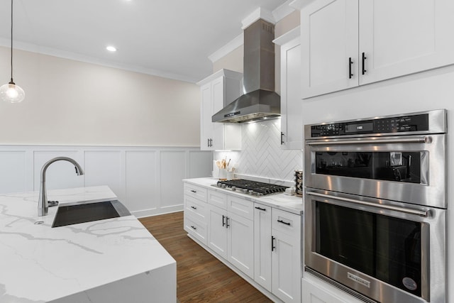
[[189, 182], [195, 185], [206, 187], [208, 189], [216, 190], [218, 192], [224, 192], [226, 194], [231, 194], [237, 197], [241, 197], [251, 202], [258, 202], [265, 204], [267, 206], [275, 207], [277, 209], [282, 209], [284, 211], [292, 212], [293, 214], [303, 214], [303, 198], [297, 196], [290, 196], [288, 194], [270, 194], [267, 196], [256, 197], [250, 196], [248, 194], [240, 194], [238, 192], [232, 192], [228, 189], [222, 189], [219, 187], [211, 186], [216, 184], [218, 180], [212, 177], [205, 178], [194, 178], [194, 179], [184, 179], [183, 182]]

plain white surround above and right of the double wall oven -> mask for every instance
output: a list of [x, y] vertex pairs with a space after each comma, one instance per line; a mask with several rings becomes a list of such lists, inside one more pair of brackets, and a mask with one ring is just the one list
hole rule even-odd
[[[454, 290], [454, 66], [303, 100], [303, 124], [448, 109], [448, 290]], [[453, 291], [448, 302], [454, 302]]]

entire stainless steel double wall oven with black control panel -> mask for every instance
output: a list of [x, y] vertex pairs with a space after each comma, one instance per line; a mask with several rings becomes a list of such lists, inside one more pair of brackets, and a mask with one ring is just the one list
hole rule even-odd
[[445, 302], [446, 111], [304, 136], [304, 270], [365, 302]]

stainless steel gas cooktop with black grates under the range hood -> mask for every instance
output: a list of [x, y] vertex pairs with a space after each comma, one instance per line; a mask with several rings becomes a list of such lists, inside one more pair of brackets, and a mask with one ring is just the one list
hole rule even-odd
[[285, 192], [287, 187], [265, 182], [257, 182], [244, 179], [218, 181], [213, 185], [223, 189], [239, 192], [241, 194], [250, 194], [253, 196], [265, 196], [267, 194], [277, 194]]

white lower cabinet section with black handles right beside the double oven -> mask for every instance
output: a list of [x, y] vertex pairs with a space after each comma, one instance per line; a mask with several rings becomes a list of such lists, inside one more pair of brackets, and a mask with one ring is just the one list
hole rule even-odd
[[254, 207], [255, 282], [284, 302], [301, 302], [301, 216]]

